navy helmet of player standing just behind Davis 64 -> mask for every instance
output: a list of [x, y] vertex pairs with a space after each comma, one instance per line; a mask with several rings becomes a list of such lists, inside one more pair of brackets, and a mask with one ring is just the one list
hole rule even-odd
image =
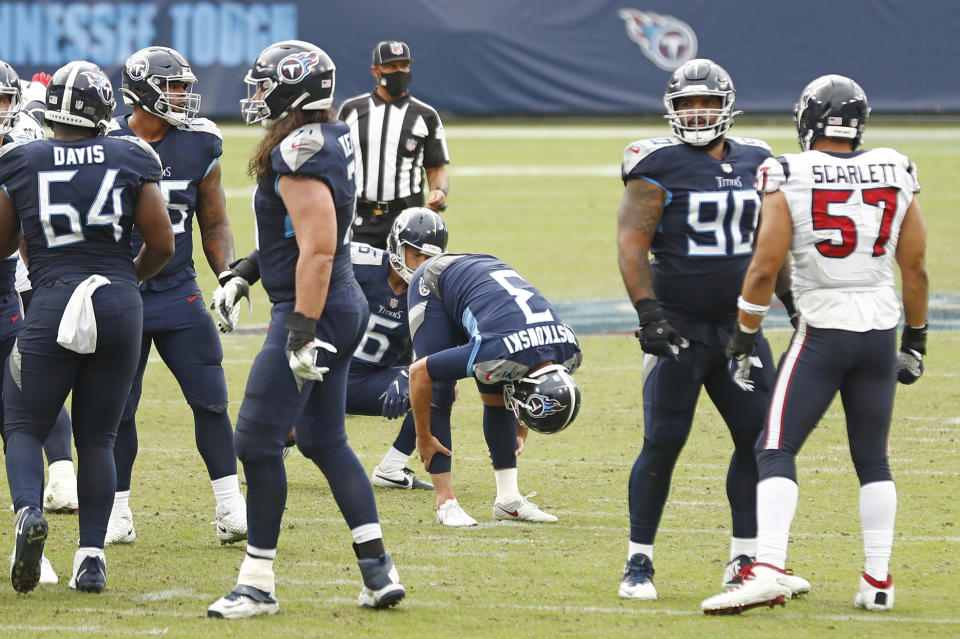
[[[176, 91], [171, 83], [180, 83]], [[140, 105], [174, 126], [190, 124], [200, 112], [197, 76], [190, 63], [169, 47], [147, 47], [127, 58], [120, 71], [120, 93], [127, 106]]]

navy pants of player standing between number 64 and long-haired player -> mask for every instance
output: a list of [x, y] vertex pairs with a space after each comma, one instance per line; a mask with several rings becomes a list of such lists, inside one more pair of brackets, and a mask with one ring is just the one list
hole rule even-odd
[[237, 474], [233, 428], [227, 416], [227, 382], [223, 374], [220, 336], [195, 280], [169, 291], [143, 296], [140, 360], [117, 432], [114, 458], [117, 490], [130, 490], [137, 457], [136, 413], [143, 392], [143, 374], [151, 344], [177, 379], [193, 410], [194, 437], [210, 479]]

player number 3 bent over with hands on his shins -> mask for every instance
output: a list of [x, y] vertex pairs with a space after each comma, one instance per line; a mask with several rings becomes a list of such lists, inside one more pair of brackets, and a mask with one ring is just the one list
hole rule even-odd
[[528, 428], [562, 430], [580, 410], [580, 390], [570, 375], [582, 359], [573, 330], [537, 289], [490, 255], [430, 258], [407, 295], [420, 358], [410, 366], [410, 404], [417, 452], [437, 492], [437, 520], [477, 523], [457, 502], [450, 477], [454, 384], [473, 377], [497, 483], [493, 517], [557, 521], [520, 493], [517, 456]]

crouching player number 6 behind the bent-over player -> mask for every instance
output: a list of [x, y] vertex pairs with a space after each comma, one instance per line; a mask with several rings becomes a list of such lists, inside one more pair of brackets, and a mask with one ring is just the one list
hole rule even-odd
[[350, 362], [347, 414], [403, 417], [396, 441], [373, 469], [374, 486], [433, 489], [407, 468], [417, 438], [405, 365], [411, 349], [407, 288], [417, 267], [446, 247], [443, 218], [424, 207], [400, 213], [387, 235], [386, 251], [368, 244], [351, 246], [353, 272], [367, 298], [370, 320]]

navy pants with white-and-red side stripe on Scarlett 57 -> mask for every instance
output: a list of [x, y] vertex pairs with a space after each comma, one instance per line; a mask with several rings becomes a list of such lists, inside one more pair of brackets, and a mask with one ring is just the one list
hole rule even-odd
[[839, 391], [860, 483], [892, 480], [887, 439], [896, 386], [895, 329], [855, 333], [801, 324], [780, 360], [757, 442], [760, 479], [797, 481], [797, 453]]

